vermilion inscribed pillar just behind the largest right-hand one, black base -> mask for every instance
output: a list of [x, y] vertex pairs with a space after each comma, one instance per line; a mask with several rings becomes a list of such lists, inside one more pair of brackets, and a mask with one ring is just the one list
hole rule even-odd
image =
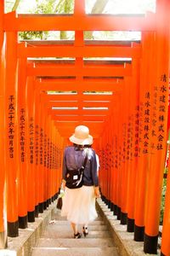
[[153, 61], [154, 52], [154, 32], [142, 33], [142, 59], [140, 68], [139, 84], [139, 159], [135, 193], [135, 225], [134, 240], [144, 241], [144, 212], [146, 195], [146, 174], [150, 169], [150, 108], [151, 108], [151, 84], [153, 83]]

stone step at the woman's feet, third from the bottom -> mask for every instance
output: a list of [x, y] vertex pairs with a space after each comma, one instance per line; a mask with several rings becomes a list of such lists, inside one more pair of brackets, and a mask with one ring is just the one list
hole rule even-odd
[[[101, 231], [89, 231], [88, 238], [106, 238], [111, 237], [111, 234], [108, 230]], [[58, 232], [54, 229], [46, 229], [42, 232], [42, 238], [73, 238], [72, 230], [62, 230]]]

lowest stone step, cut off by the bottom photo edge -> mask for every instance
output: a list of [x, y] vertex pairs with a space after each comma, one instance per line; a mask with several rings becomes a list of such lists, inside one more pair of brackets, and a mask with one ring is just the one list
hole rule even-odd
[[118, 256], [116, 247], [34, 247], [31, 256]]

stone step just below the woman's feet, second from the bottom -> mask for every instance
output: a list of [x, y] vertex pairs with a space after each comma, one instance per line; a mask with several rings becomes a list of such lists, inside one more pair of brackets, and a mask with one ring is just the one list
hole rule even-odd
[[37, 247], [114, 247], [114, 243], [111, 238], [40, 238]]

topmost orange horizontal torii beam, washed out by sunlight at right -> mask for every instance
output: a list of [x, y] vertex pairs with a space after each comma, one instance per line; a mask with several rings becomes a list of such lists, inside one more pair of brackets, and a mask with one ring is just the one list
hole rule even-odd
[[156, 15], [4, 15], [5, 31], [155, 31]]

